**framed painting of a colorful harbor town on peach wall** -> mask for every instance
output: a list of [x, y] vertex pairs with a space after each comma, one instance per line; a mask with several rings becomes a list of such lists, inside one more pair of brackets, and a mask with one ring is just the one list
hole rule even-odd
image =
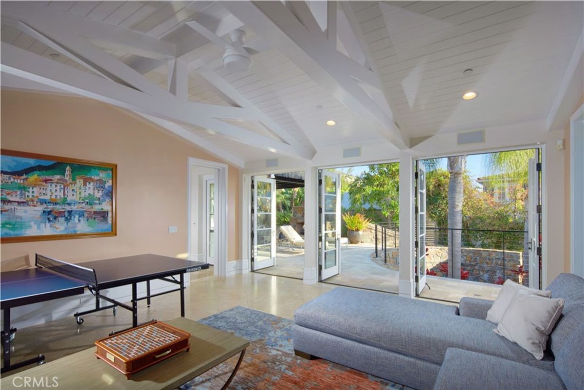
[[116, 164], [0, 151], [0, 242], [116, 235]]

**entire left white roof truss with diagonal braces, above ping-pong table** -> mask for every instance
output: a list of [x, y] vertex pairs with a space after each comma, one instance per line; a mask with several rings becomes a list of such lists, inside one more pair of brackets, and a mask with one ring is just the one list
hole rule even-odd
[[[2, 43], [3, 72], [125, 107], [163, 121], [194, 125], [204, 128], [211, 134], [218, 134], [274, 153], [304, 159], [311, 159], [314, 156], [314, 149], [300, 145], [250, 102], [242, 99], [242, 96], [227, 83], [221, 85], [221, 79], [218, 76], [206, 75], [207, 78], [213, 80], [211, 83], [216, 88], [222, 90], [223, 93], [227, 92], [232, 101], [244, 103], [245, 107], [189, 102], [187, 97], [189, 62], [185, 57], [178, 59], [175, 57], [175, 47], [172, 44], [169, 46], [164, 41], [144, 34], [122, 27], [103, 25], [103, 23], [80, 18], [45, 5], [11, 2], [3, 4], [2, 13], [16, 20], [16, 26], [26, 34], [30, 34], [100, 76], [6, 43]], [[87, 37], [118, 40], [128, 46], [135, 44], [138, 48], [153, 47], [155, 49], [153, 57], [156, 58], [156, 62], [150, 64], [149, 68], [164, 64], [164, 61], [160, 62], [159, 59], [167, 59], [169, 90], [161, 88], [140, 72], [107, 54]], [[260, 121], [285, 141], [274, 140], [221, 119]], [[159, 124], [164, 126], [162, 123]]]

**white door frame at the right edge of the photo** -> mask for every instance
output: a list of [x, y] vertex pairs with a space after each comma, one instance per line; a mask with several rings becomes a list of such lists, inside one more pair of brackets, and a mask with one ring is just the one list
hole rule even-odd
[[584, 105], [570, 117], [570, 272], [584, 277]]

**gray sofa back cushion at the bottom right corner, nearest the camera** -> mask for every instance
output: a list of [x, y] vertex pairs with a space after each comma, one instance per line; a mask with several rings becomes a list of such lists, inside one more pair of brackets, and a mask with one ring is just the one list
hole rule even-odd
[[584, 389], [584, 322], [570, 333], [562, 348], [555, 355], [555, 371], [568, 390]]

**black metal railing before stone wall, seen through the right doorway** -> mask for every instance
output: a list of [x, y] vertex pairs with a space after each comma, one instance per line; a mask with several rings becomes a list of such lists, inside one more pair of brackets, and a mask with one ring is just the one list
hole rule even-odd
[[431, 239], [420, 245], [426, 248], [426, 274], [529, 285], [527, 231], [426, 227], [426, 235]]

